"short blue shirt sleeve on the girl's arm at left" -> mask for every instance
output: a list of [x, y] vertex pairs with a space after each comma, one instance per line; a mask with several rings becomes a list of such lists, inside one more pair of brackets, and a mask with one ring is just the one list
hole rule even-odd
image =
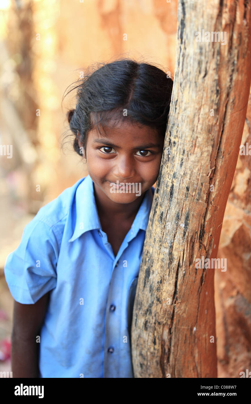
[[51, 227], [34, 217], [4, 265], [12, 297], [19, 303], [33, 304], [55, 288], [57, 258], [58, 244]]

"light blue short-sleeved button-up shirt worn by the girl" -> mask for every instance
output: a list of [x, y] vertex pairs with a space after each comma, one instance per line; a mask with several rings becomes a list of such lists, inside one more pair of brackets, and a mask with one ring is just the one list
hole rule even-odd
[[34, 304], [50, 291], [39, 377], [133, 377], [131, 321], [153, 194], [154, 187], [146, 191], [116, 257], [89, 175], [25, 226], [4, 274], [19, 303]]

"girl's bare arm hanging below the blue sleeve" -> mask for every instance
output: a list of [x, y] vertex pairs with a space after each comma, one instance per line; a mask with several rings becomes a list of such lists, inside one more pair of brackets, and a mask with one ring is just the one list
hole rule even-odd
[[15, 301], [11, 335], [12, 377], [39, 377], [39, 343], [36, 336], [44, 322], [50, 291], [34, 304]]

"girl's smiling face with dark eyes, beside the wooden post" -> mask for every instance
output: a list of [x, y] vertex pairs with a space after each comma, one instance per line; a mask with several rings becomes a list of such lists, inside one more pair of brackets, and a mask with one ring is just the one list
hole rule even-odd
[[[130, 122], [123, 122], [119, 127], [106, 128], [106, 133], [108, 137], [100, 137], [95, 129], [88, 133], [86, 155], [84, 154], [87, 170], [94, 186], [104, 192], [102, 198], [128, 204], [139, 197], [139, 189], [144, 194], [156, 182], [164, 138], [149, 126], [133, 125]], [[135, 192], [133, 193], [133, 188], [131, 192], [121, 193], [119, 188], [111, 192], [110, 184], [116, 184], [116, 181], [135, 183]]]

